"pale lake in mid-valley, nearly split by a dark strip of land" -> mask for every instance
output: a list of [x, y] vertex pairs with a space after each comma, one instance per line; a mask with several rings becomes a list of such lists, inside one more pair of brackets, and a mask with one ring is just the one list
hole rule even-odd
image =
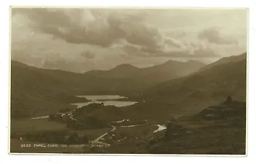
[[[124, 96], [118, 95], [86, 95], [86, 96], [77, 96], [79, 98], [86, 98], [90, 100], [86, 103], [72, 103], [72, 105], [76, 105], [77, 107], [83, 107], [89, 105], [90, 103], [103, 103], [105, 106], [114, 105], [115, 107], [125, 107], [129, 105], [134, 105], [135, 101], [118, 101], [118, 99], [125, 98]], [[102, 101], [99, 101], [102, 100]]]

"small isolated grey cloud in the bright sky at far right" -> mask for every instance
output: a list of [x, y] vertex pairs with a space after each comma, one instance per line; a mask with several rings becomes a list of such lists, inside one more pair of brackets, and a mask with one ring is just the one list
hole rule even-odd
[[231, 36], [225, 36], [225, 34], [221, 34], [219, 29], [214, 27], [200, 31], [200, 33], [198, 33], [198, 38], [200, 40], [206, 40], [209, 41], [209, 43], [216, 44], [230, 45], [238, 43], [237, 40]]

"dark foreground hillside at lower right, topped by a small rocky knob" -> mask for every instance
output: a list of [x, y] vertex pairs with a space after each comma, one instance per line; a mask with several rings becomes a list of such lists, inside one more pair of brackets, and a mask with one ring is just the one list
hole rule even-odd
[[246, 154], [245, 102], [225, 101], [191, 116], [172, 118], [166, 125], [148, 142], [149, 153]]

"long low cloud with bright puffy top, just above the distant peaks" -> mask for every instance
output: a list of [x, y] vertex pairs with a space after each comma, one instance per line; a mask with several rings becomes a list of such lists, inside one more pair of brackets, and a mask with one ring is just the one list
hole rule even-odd
[[169, 36], [163, 36], [163, 40], [159, 43], [158, 47], [134, 45], [124, 40], [114, 44], [113, 47], [120, 48], [126, 54], [134, 57], [220, 57], [220, 54], [214, 51], [213, 48], [204, 41], [183, 43]]

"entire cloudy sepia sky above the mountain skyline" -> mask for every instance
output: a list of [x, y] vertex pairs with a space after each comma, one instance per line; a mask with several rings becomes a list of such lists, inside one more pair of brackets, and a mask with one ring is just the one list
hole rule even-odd
[[246, 52], [247, 10], [12, 8], [11, 57], [83, 73], [129, 63], [212, 63]]

